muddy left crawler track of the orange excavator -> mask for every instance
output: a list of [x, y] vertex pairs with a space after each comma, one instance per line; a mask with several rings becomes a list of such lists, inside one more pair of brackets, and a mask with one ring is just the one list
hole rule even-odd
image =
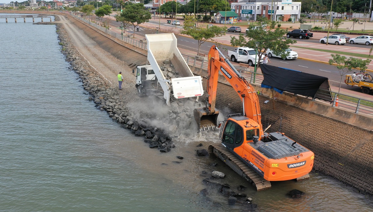
[[[229, 150], [220, 144], [212, 144], [209, 146], [209, 155], [211, 158], [220, 158], [229, 167], [231, 167], [237, 174], [241, 175], [249, 181], [257, 191], [264, 190], [271, 187], [268, 180], [264, 180], [256, 171], [248, 167], [242, 160], [233, 155]], [[309, 177], [309, 176], [308, 176]]]

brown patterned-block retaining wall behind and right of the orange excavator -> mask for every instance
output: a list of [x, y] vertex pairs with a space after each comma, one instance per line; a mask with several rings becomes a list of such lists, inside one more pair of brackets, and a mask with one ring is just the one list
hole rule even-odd
[[[242, 113], [242, 102], [230, 85], [219, 83], [216, 99], [216, 107], [224, 115]], [[269, 102], [264, 104], [265, 100]], [[267, 97], [259, 96], [259, 101], [263, 127], [281, 116], [281, 132], [314, 152], [314, 172], [373, 195], [372, 132], [276, 100], [273, 109], [272, 99]], [[278, 131], [279, 125], [278, 121], [267, 132]]]

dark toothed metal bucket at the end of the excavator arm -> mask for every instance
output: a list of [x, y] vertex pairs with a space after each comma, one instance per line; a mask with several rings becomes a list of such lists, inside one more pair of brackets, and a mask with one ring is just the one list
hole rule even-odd
[[194, 109], [194, 118], [200, 130], [216, 130], [217, 129], [217, 116], [219, 110], [215, 110], [214, 113], [207, 113], [204, 108]]

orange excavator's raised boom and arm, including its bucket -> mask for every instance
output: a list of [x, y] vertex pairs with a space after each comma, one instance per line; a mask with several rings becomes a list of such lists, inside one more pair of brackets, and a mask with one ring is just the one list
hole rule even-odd
[[[200, 129], [204, 129], [205, 125], [215, 124], [219, 111], [215, 108], [216, 91], [218, 84], [219, 71], [227, 79], [229, 84], [237, 92], [242, 101], [243, 115], [258, 123], [260, 126], [260, 135], [263, 135], [263, 127], [261, 125], [261, 114], [259, 107], [258, 96], [254, 88], [246, 81], [246, 79], [234, 68], [234, 66], [224, 56], [220, 50], [214, 45], [209, 51], [209, 63], [207, 68], [207, 98], [206, 105], [203, 108], [194, 110], [194, 116]], [[210, 123], [209, 123], [210, 122]]]

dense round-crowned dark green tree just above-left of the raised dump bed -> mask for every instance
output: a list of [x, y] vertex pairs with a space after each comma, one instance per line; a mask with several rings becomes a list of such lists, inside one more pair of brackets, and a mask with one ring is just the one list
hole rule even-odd
[[125, 7], [125, 10], [123, 10], [123, 12], [120, 13], [121, 21], [129, 22], [134, 26], [134, 37], [136, 24], [149, 22], [150, 19], [151, 14], [150, 12], [148, 12], [148, 10], [145, 9], [144, 4], [142, 3], [128, 4]]

